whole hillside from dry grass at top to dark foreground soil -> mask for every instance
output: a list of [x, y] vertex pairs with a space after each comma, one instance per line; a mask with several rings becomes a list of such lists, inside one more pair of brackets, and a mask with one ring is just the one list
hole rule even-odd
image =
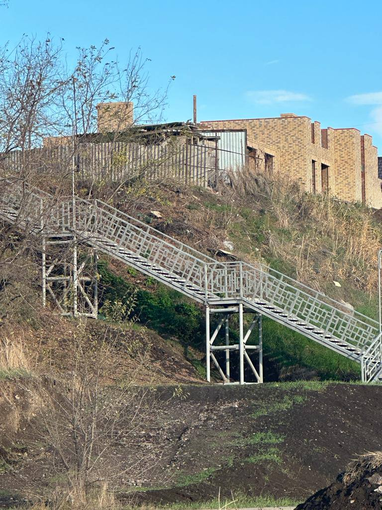
[[[361, 205], [261, 175], [215, 190], [137, 181], [78, 191], [203, 252], [219, 258], [228, 249], [376, 316], [382, 228]], [[58, 317], [40, 304], [38, 247], [7, 226], [0, 239], [0, 504], [187, 506], [215, 500], [219, 487], [244, 506], [281, 504], [380, 448], [379, 388], [325, 381], [359, 377], [343, 356], [264, 320], [265, 379], [278, 382], [207, 386], [201, 305], [103, 257], [99, 319]], [[235, 338], [235, 319], [230, 326]]]

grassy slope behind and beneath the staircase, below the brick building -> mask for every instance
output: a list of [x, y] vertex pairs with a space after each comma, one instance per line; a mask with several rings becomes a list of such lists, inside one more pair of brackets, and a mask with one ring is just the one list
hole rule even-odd
[[[89, 189], [81, 191], [85, 195]], [[107, 199], [102, 188], [94, 193]], [[378, 213], [360, 204], [302, 193], [288, 181], [253, 174], [215, 190], [169, 182], [129, 183], [109, 201], [200, 251], [215, 255], [219, 248], [228, 249], [237, 258], [284, 272], [343, 302], [344, 307], [349, 303], [377, 317], [382, 227]], [[154, 218], [152, 210], [162, 218]], [[185, 349], [192, 345], [203, 350], [204, 318], [199, 305], [114, 261], [105, 261], [101, 275], [104, 298], [123, 301], [138, 292], [134, 312], [141, 322], [177, 337]], [[122, 279], [114, 281], [116, 275]], [[359, 377], [357, 364], [267, 319], [264, 349], [268, 380]]]

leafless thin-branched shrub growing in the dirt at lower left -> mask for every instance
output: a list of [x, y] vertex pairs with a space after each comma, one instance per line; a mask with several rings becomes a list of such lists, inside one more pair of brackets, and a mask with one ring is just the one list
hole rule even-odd
[[[142, 479], [165, 448], [160, 441], [137, 441], [155, 416], [155, 392], [137, 386], [148, 351], [124, 341], [115, 327], [112, 339], [106, 332], [98, 344], [89, 345], [86, 322], [77, 324], [72, 347], [70, 376], [61, 378], [56, 390], [42, 390], [42, 416], [52, 469], [64, 475], [61, 497], [86, 503], [95, 488], [107, 486], [113, 493]], [[128, 370], [121, 369], [126, 356], [134, 359]]]

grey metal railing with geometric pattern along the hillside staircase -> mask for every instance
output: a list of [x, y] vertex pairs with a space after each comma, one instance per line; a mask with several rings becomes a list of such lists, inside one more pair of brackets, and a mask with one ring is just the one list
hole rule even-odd
[[[378, 323], [359, 312], [350, 314], [343, 311], [344, 305], [335, 299], [275, 269], [268, 268], [265, 271], [261, 264], [256, 267], [240, 261], [216, 261], [101, 200], [54, 197], [33, 186], [22, 186], [19, 182], [8, 181], [8, 184], [13, 185], [13, 190], [7, 196], [2, 195], [0, 202], [25, 215], [29, 214], [24, 220], [36, 221], [35, 215], [41, 216], [41, 211], [44, 211], [52, 218], [50, 225], [47, 221], [47, 228], [56, 228], [60, 232], [72, 232], [74, 228], [77, 234], [82, 233], [87, 238], [95, 235], [108, 239], [117, 246], [147, 257], [151, 263], [150, 268], [155, 264], [169, 273], [180, 275], [184, 281], [181, 285], [186, 288], [189, 282], [194, 288], [203, 290], [206, 302], [210, 298], [221, 299], [222, 295], [228, 299], [242, 299], [249, 305], [256, 304], [259, 297], [265, 299], [283, 308], [289, 316], [303, 317], [306, 322], [316, 324], [316, 327], [327, 330], [332, 336], [362, 348], [365, 377], [375, 368], [371, 367], [365, 355], [374, 356], [378, 346], [380, 349], [381, 338], [376, 336]], [[25, 189], [29, 193], [26, 196], [27, 209], [31, 198], [29, 212], [20, 209], [25, 203], [22, 200]], [[50, 203], [52, 200], [54, 205]], [[76, 225], [73, 225], [73, 218], [76, 218]], [[94, 243], [97, 241], [94, 240]], [[113, 254], [113, 249], [108, 251]], [[117, 251], [115, 255], [118, 255]], [[379, 360], [380, 354], [378, 356]]]

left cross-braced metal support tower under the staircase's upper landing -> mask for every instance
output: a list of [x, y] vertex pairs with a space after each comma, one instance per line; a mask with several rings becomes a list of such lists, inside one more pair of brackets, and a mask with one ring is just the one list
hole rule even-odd
[[75, 236], [44, 236], [42, 240], [42, 304], [47, 297], [65, 316], [98, 316], [97, 253]]

